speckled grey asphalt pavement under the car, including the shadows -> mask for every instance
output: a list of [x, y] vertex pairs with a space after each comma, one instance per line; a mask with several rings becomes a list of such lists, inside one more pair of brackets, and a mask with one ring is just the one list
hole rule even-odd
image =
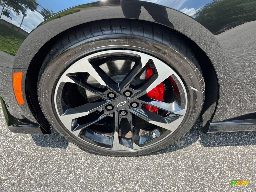
[[[255, 191], [256, 132], [203, 134], [137, 157], [84, 151], [56, 131], [11, 133], [0, 108], [0, 191]], [[250, 180], [230, 186], [232, 180]]]

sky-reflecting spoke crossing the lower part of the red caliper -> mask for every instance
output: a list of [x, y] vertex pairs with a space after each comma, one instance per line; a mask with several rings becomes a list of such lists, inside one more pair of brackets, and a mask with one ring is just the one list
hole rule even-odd
[[137, 101], [144, 105], [151, 105], [156, 108], [174, 113], [176, 115], [184, 116], [187, 111], [186, 109], [180, 108], [176, 101], [172, 103], [165, 103], [165, 102], [157, 101], [155, 99], [152, 99], [146, 96], [140, 97], [139, 99], [137, 99]]

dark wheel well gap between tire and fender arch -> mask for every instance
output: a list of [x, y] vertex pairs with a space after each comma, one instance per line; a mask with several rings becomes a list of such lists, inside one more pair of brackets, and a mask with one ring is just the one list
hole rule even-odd
[[[48, 123], [44, 114], [41, 111], [41, 108], [38, 102], [38, 96], [37, 96], [38, 75], [39, 75], [41, 65], [44, 59], [46, 58], [49, 50], [52, 48], [52, 46], [61, 36], [63, 36], [65, 33], [67, 33], [70, 30], [79, 28], [79, 26], [82, 26], [82, 25], [78, 25], [70, 29], [67, 29], [65, 31], [62, 31], [60, 34], [51, 38], [39, 49], [39, 51], [36, 53], [36, 55], [33, 57], [33, 59], [29, 64], [27, 75], [26, 75], [26, 83], [25, 83], [26, 98], [27, 98], [27, 102], [31, 112], [34, 114], [35, 118], [43, 128], [42, 131], [44, 134], [50, 133], [50, 124]], [[190, 48], [196, 55], [196, 58], [198, 60], [198, 63], [201, 67], [201, 70], [204, 76], [205, 87], [206, 87], [205, 102], [201, 112], [201, 119], [203, 119], [202, 126], [204, 126], [208, 120], [209, 121], [212, 120], [217, 107], [218, 98], [219, 98], [219, 88], [218, 88], [219, 84], [218, 84], [217, 73], [215, 71], [215, 68], [211, 60], [207, 56], [207, 54], [193, 40], [189, 39], [184, 34], [172, 28], [163, 26], [161, 24], [158, 24], [158, 25], [164, 28], [167, 28], [169, 31], [172, 31], [173, 33], [176, 33], [177, 35], [182, 37], [182, 39], [185, 40], [185, 42], [190, 46]]]

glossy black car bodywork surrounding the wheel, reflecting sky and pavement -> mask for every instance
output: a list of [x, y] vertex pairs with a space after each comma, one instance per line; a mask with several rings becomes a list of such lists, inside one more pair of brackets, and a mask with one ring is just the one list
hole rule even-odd
[[[5, 103], [3, 108], [8, 110], [8, 117], [11, 115], [24, 124], [29, 121], [40, 125], [38, 134], [50, 133], [50, 127], [39, 107], [37, 81], [33, 80], [37, 79], [37, 71], [55, 40], [66, 30], [84, 23], [104, 19], [137, 19], [138, 16], [138, 19], [176, 31], [195, 52], [206, 82], [206, 100], [201, 113], [202, 132], [256, 129], [256, 1], [249, 0], [245, 4], [244, 1], [230, 0], [205, 3], [196, 0], [84, 0], [79, 5], [75, 1], [65, 4], [60, 0], [38, 0], [27, 5], [24, 14], [12, 9], [18, 1], [0, 2], [0, 11], [4, 7], [0, 19], [0, 28], [4, 30], [0, 30], [0, 36], [4, 37], [6, 30], [9, 30], [8, 33], [17, 38], [14, 48], [9, 46], [8, 38], [1, 40], [0, 95]], [[128, 14], [129, 7], [126, 6], [129, 4], [144, 8], [141, 8], [141, 13], [131, 11]], [[222, 9], [218, 9], [220, 5]], [[154, 11], [150, 10], [152, 7]], [[87, 49], [93, 49], [93, 45]], [[202, 56], [201, 59], [199, 56]], [[23, 105], [18, 105], [14, 96], [12, 73], [15, 71], [24, 72]], [[231, 129], [230, 125], [235, 128]], [[247, 128], [243, 129], [243, 125]]]

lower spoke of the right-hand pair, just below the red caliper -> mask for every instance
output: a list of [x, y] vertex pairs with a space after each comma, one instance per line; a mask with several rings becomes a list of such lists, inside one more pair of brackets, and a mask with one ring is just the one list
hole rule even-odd
[[130, 111], [137, 115], [138, 117], [142, 118], [143, 120], [147, 121], [148, 123], [163, 127], [170, 131], [174, 131], [177, 129], [174, 125], [176, 125], [179, 119], [183, 119], [176, 115], [169, 115], [167, 117], [163, 117], [157, 115], [156, 113], [152, 113], [146, 109], [130, 109]]

